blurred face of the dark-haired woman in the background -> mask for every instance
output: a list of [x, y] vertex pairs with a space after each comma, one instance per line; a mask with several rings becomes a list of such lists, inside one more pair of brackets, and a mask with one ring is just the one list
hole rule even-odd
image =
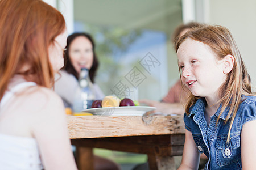
[[93, 46], [85, 36], [76, 37], [69, 46], [69, 58], [77, 73], [81, 68], [90, 70], [93, 64]]

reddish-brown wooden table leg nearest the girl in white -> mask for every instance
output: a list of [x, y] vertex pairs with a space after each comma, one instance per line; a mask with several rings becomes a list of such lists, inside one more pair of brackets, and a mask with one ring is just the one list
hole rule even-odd
[[92, 149], [90, 147], [76, 147], [76, 162], [79, 170], [94, 170]]

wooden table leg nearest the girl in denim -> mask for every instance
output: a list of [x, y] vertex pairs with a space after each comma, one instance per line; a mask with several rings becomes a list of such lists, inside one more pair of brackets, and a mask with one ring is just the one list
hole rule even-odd
[[159, 156], [148, 154], [150, 170], [175, 170], [176, 165], [172, 156]]

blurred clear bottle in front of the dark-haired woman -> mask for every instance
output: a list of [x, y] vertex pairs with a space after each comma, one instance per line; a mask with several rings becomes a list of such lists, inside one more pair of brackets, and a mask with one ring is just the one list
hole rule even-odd
[[93, 83], [90, 81], [89, 71], [82, 68], [79, 74], [79, 86], [77, 87], [73, 100], [72, 109], [74, 113], [79, 113], [92, 107], [95, 100]]

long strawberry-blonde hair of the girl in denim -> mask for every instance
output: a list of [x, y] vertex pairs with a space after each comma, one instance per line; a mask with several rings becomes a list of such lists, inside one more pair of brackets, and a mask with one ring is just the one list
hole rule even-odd
[[[216, 54], [217, 59], [221, 60], [228, 54], [234, 57], [233, 69], [228, 73], [225, 82], [220, 87], [219, 96], [220, 100], [218, 105], [222, 104], [220, 115], [217, 118], [217, 122], [220, 120], [221, 114], [226, 107], [230, 107], [228, 116], [224, 123], [228, 121], [231, 116], [229, 133], [227, 142], [229, 142], [230, 131], [236, 116], [238, 107], [242, 100], [242, 95], [253, 95], [251, 91], [250, 75], [247, 72], [245, 63], [242, 60], [241, 54], [237, 48], [230, 31], [219, 25], [204, 25], [200, 28], [191, 29], [185, 35], [181, 36], [176, 41], [176, 52], [179, 46], [187, 39], [203, 42], [208, 45], [210, 49]], [[189, 108], [196, 103], [199, 97], [193, 96], [189, 92], [188, 101], [185, 105], [185, 112], [189, 114]], [[216, 123], [217, 125], [217, 123]]]

